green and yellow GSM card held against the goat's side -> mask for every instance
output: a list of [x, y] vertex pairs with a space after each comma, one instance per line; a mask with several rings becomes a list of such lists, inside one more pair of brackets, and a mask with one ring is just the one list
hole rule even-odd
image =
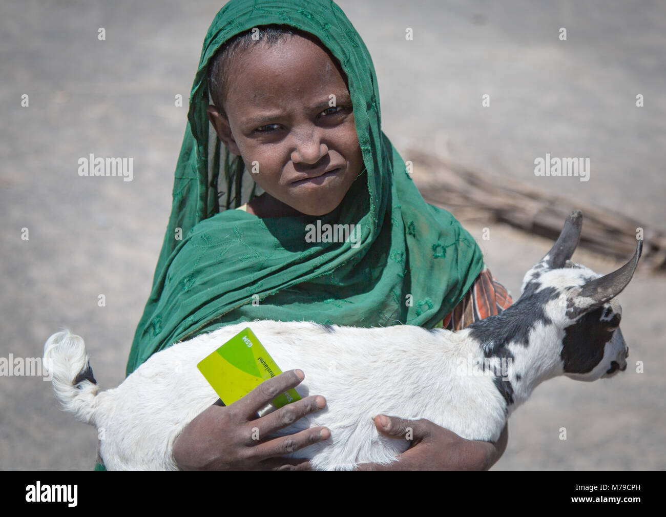
[[[197, 364], [226, 406], [282, 373], [250, 328], [244, 328]], [[300, 400], [294, 388], [272, 400], [276, 408]]]

